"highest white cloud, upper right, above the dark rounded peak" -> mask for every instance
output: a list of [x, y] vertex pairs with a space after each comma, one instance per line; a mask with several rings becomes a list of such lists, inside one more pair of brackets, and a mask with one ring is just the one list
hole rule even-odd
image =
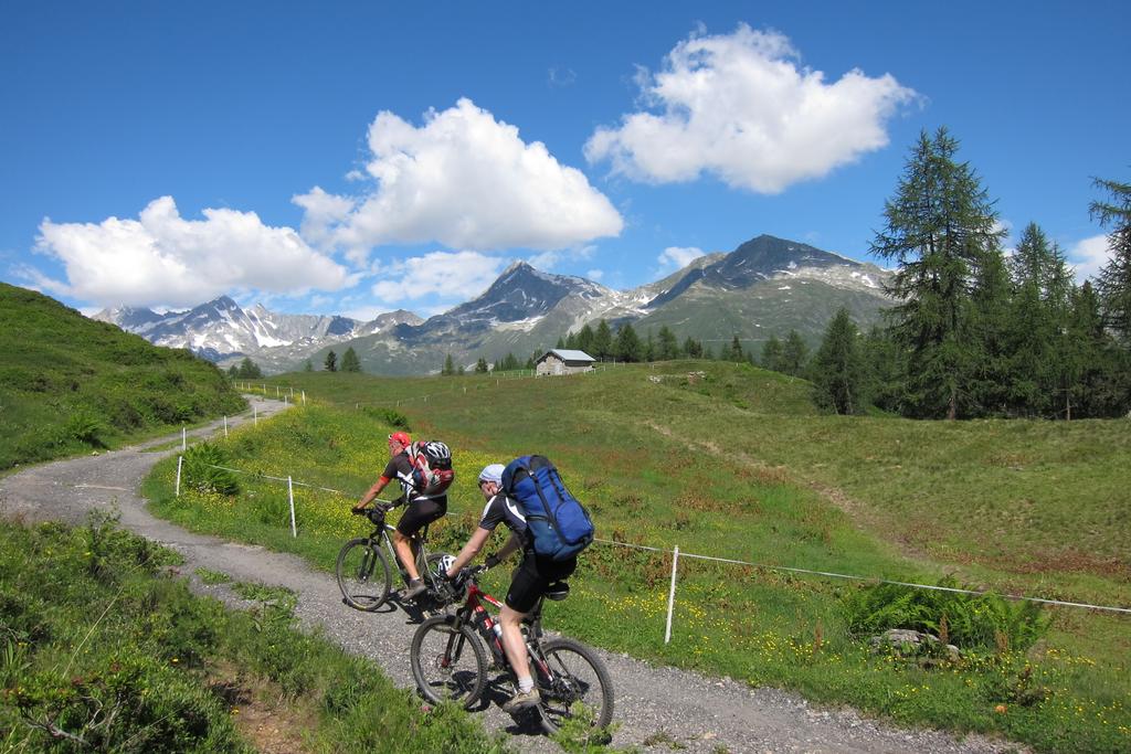
[[717, 175], [732, 188], [778, 193], [888, 145], [884, 121], [917, 98], [890, 75], [851, 70], [828, 84], [798, 68], [784, 35], [741, 24], [734, 34], [694, 34], [664, 69], [638, 71], [646, 105], [620, 128], [598, 128], [590, 162], [650, 183]]

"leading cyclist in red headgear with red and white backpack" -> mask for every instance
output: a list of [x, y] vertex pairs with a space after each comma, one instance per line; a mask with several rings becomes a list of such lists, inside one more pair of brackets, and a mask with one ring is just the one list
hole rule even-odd
[[354, 513], [364, 511], [390, 482], [396, 479], [400, 483], [400, 496], [386, 508], [396, 508], [400, 503], [407, 505], [397, 521], [397, 530], [392, 532], [392, 547], [408, 574], [408, 587], [402, 590], [402, 599], [418, 597], [428, 589], [416, 569], [413, 538], [448, 512], [448, 487], [454, 478], [451, 451], [446, 444], [413, 442], [407, 432], [394, 432], [389, 435], [389, 462], [381, 477], [353, 508]]

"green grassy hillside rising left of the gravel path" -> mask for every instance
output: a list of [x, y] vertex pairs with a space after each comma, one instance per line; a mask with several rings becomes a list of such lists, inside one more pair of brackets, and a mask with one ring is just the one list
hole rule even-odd
[[244, 408], [213, 364], [0, 283], [0, 470]]

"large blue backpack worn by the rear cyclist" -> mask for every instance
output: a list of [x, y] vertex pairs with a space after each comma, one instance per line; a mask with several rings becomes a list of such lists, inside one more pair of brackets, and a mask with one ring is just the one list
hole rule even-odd
[[545, 456], [520, 456], [502, 473], [502, 491], [518, 501], [534, 552], [566, 561], [593, 541], [593, 521]]

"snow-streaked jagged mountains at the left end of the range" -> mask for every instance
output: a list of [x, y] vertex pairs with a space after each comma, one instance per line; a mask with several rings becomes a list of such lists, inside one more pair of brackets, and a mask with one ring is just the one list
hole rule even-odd
[[103, 310], [94, 319], [116, 324], [158, 346], [188, 348], [221, 364], [250, 356], [265, 367], [278, 369], [329, 343], [423, 321], [404, 310], [382, 314], [371, 322], [337, 315], [279, 314], [262, 304], [242, 309], [227, 296], [187, 312], [157, 314], [148, 309], [122, 307]]

